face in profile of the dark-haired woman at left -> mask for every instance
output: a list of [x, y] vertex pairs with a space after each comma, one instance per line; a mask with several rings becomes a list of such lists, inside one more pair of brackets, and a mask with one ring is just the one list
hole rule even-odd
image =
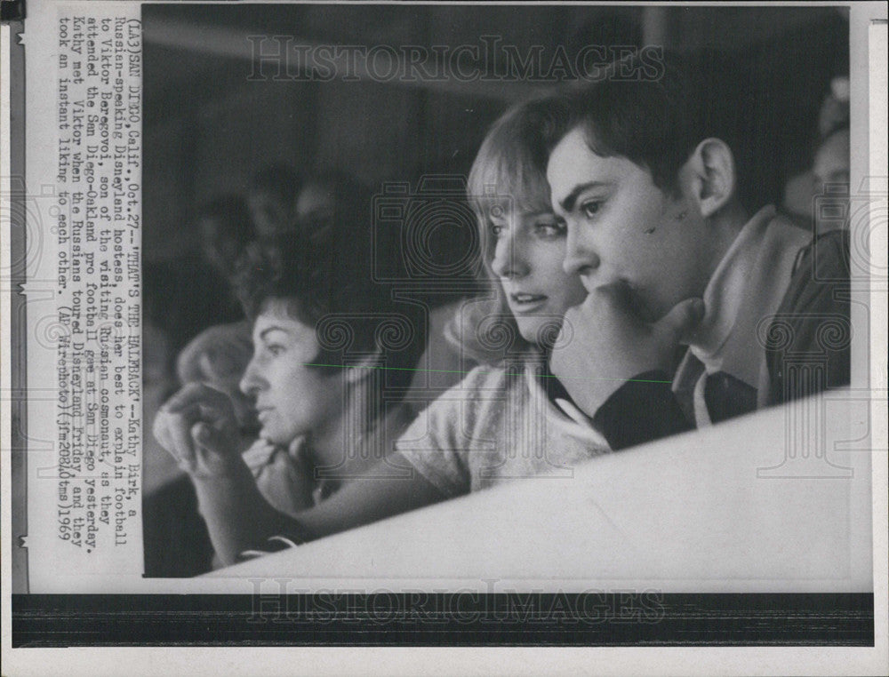
[[260, 437], [287, 445], [336, 425], [345, 402], [345, 379], [312, 366], [320, 346], [315, 327], [288, 313], [286, 299], [270, 299], [253, 323], [253, 356], [241, 390], [255, 398]]

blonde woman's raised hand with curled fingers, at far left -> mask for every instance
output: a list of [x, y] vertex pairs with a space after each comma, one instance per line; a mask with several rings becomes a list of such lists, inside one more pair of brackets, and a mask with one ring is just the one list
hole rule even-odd
[[190, 383], [157, 412], [157, 442], [195, 478], [223, 477], [244, 466], [228, 395]]

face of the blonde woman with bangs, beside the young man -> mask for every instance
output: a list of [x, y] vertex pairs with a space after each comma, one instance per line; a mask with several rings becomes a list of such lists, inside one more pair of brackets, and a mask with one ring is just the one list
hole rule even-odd
[[565, 224], [551, 211], [496, 208], [489, 217], [493, 238], [491, 268], [522, 338], [534, 345], [555, 339], [552, 329], [565, 310], [586, 298], [577, 275], [565, 273]]

